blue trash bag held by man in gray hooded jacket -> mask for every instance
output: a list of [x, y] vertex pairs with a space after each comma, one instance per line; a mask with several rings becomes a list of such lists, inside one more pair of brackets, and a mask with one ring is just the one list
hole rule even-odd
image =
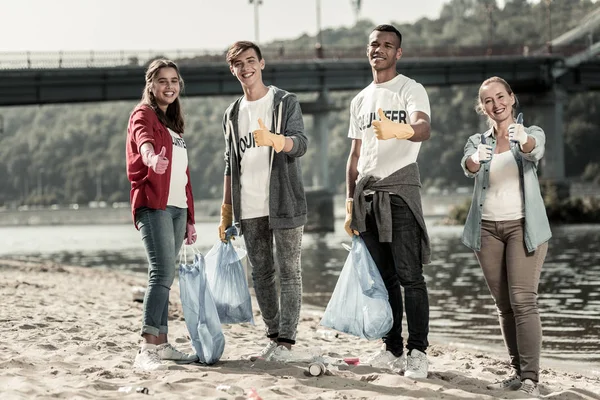
[[[230, 227], [225, 234], [229, 238], [237, 235], [237, 230]], [[206, 255], [208, 284], [222, 324], [254, 324], [252, 299], [242, 265], [245, 255], [245, 251], [237, 250], [231, 240], [227, 243], [219, 240]]]

